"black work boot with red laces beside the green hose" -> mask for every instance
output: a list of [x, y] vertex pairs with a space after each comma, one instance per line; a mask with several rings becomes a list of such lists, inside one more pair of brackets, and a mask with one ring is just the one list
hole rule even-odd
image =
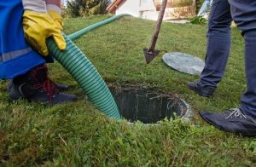
[[13, 79], [9, 99], [15, 101], [24, 98], [27, 101], [49, 105], [77, 100], [76, 96], [60, 93], [55, 87], [55, 83], [48, 78], [47, 67], [37, 66], [32, 71]]

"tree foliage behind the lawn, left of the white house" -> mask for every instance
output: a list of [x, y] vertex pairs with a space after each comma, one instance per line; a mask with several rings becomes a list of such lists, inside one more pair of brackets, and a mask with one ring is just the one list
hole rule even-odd
[[110, 0], [70, 0], [67, 1], [66, 14], [71, 17], [107, 14]]

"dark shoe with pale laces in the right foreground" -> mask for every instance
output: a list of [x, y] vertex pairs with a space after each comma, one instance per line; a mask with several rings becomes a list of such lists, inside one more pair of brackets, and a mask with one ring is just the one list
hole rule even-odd
[[224, 130], [239, 135], [256, 136], [256, 118], [252, 118], [239, 108], [226, 112], [200, 112], [201, 118], [212, 124], [218, 130]]

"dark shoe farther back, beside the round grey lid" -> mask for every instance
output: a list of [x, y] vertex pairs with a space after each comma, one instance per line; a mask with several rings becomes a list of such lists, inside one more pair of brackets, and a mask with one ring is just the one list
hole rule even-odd
[[214, 93], [215, 88], [213, 87], [202, 87], [200, 84], [201, 80], [196, 79], [194, 82], [188, 84], [188, 88], [195, 91], [198, 95], [211, 97]]

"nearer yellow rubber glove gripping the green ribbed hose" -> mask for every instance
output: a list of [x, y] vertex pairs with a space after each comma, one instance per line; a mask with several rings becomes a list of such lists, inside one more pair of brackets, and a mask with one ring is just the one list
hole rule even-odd
[[53, 37], [57, 47], [66, 49], [66, 41], [61, 34], [60, 28], [47, 13], [37, 13], [25, 10], [23, 14], [23, 30], [26, 41], [36, 49], [40, 55], [49, 55], [46, 39]]

